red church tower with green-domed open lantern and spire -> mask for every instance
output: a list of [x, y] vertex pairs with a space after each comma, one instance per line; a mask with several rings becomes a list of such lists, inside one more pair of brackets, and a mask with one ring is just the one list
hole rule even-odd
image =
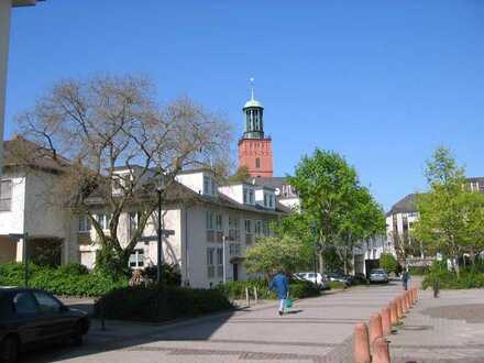
[[245, 131], [239, 141], [239, 166], [246, 166], [252, 177], [272, 177], [272, 140], [264, 135], [264, 107], [255, 100], [253, 87], [251, 96], [242, 109]]

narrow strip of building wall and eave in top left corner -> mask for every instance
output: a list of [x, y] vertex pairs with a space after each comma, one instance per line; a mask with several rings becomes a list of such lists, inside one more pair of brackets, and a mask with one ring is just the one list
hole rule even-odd
[[[43, 1], [43, 0], [40, 0]], [[36, 0], [0, 0], [0, 175], [3, 160], [3, 119], [6, 113], [7, 64], [9, 59], [12, 8], [35, 6]]]

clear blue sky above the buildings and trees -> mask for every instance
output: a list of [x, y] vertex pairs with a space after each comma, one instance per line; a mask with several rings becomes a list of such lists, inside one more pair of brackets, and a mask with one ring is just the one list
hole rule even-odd
[[[54, 81], [145, 74], [242, 132], [249, 81], [275, 172], [315, 147], [353, 164], [385, 209], [450, 146], [484, 175], [484, 1], [47, 0], [12, 19], [7, 138]], [[235, 142], [233, 148], [235, 151]]]

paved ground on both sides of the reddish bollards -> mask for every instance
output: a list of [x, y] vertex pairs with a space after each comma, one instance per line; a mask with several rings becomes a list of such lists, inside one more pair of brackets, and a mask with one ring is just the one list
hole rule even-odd
[[[418, 280], [413, 282], [417, 284]], [[172, 324], [95, 321], [80, 349], [30, 353], [24, 362], [352, 362], [352, 332], [400, 293], [398, 283], [355, 287], [295, 302], [274, 302]], [[420, 300], [389, 337], [393, 363], [484, 362], [484, 292], [442, 292]]]

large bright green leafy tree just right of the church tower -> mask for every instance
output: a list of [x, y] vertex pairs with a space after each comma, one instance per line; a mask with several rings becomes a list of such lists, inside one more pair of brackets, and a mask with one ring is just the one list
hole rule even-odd
[[382, 208], [341, 155], [317, 148], [302, 157], [289, 183], [299, 193], [306, 221], [316, 226], [321, 272], [329, 248], [345, 264], [355, 243], [384, 230]]

